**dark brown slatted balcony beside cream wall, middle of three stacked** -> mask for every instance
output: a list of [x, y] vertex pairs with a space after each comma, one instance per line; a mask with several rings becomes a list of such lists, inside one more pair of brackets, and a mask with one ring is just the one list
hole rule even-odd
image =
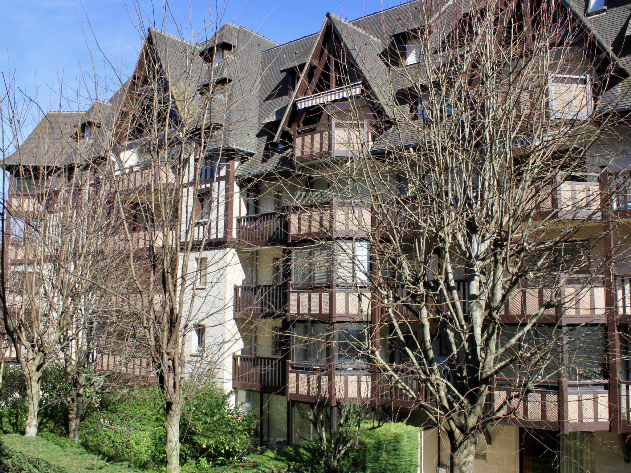
[[285, 312], [286, 286], [235, 286], [235, 317], [257, 318]]

